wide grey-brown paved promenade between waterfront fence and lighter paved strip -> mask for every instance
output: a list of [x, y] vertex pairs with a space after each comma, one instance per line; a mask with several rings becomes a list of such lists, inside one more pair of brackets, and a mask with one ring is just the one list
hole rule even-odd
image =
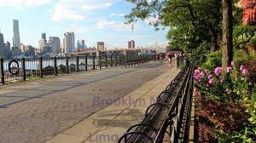
[[[164, 83], [154, 78], [165, 72], [168, 72], [169, 76], [173, 75], [172, 77], [177, 74], [174, 71], [172, 73], [163, 63], [152, 62], [143, 66], [114, 67], [67, 77], [3, 86], [0, 88], [0, 143], [43, 143], [47, 140], [50, 142], [61, 136], [57, 134], [73, 129], [72, 127], [76, 127], [81, 122], [84, 123], [87, 118], [94, 120], [96, 127], [102, 129], [102, 124], [108, 123], [109, 118], [105, 121], [106, 115], [101, 117], [100, 114], [93, 113], [106, 110], [109, 103], [127, 94], [133, 93], [131, 99], [136, 99], [137, 95], [142, 93], [137, 94], [135, 89], [145, 86], [148, 81], [152, 83], [151, 88], [156, 85], [163, 86]], [[171, 80], [170, 77], [166, 83]], [[145, 88], [143, 91], [148, 92], [148, 87]], [[160, 89], [152, 90], [157, 91], [154, 95], [160, 92]], [[128, 104], [128, 101], [126, 102]], [[123, 108], [118, 106], [109, 107], [116, 109], [116, 112], [123, 111]], [[144, 113], [138, 109], [139, 106], [131, 112]], [[130, 113], [130, 111], [127, 112], [126, 114]], [[109, 114], [112, 114], [112, 111], [109, 111]], [[113, 117], [114, 115], [115, 113]], [[126, 118], [124, 116], [124, 121]], [[132, 121], [137, 120], [137, 118], [132, 119]], [[96, 134], [98, 130], [92, 129], [93, 123], [84, 129], [91, 134]], [[131, 123], [126, 125], [124, 123], [119, 125], [120, 129], [125, 130], [131, 125]], [[88, 140], [85, 134], [81, 138], [83, 141]], [[72, 143], [72, 141], [67, 142]]]

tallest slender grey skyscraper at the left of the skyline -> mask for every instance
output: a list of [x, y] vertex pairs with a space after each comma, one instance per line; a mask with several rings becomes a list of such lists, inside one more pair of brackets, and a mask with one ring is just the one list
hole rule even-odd
[[13, 45], [20, 49], [19, 20], [13, 20]]

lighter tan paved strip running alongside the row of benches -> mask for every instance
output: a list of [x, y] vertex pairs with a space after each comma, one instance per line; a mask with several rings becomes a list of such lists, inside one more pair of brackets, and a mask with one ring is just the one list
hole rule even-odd
[[95, 99], [96, 105], [101, 105], [106, 100], [112, 104], [86, 117], [47, 143], [116, 142], [127, 129], [143, 120], [148, 106], [155, 103], [157, 96], [176, 77], [177, 72], [179, 70], [176, 68], [170, 68], [119, 100]]

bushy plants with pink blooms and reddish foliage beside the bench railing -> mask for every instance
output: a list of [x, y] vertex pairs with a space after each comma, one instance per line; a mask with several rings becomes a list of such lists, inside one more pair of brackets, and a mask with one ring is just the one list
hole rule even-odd
[[[202, 97], [202, 117], [214, 124], [220, 133], [254, 130], [256, 136], [256, 83], [247, 64], [232, 62], [227, 69], [195, 69], [195, 92]], [[253, 140], [252, 134], [247, 138]], [[227, 136], [225, 136], [227, 137]], [[231, 137], [232, 139], [236, 139]]]

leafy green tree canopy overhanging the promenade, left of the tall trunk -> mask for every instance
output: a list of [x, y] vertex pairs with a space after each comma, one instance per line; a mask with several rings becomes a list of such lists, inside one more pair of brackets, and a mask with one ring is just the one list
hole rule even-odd
[[127, 0], [137, 6], [125, 16], [127, 23], [137, 19], [158, 19], [151, 23], [171, 27], [167, 38], [186, 49], [196, 49], [201, 43], [211, 43], [212, 51], [218, 49], [221, 29], [221, 0]]

